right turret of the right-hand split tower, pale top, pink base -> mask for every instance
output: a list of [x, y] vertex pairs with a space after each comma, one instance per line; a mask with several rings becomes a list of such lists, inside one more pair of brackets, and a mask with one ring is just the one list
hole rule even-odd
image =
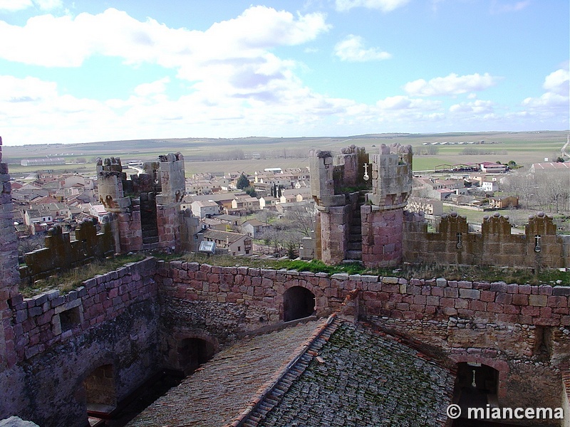
[[404, 208], [412, 191], [412, 146], [382, 144], [372, 155], [372, 193], [361, 207], [362, 260], [367, 267], [402, 263]]

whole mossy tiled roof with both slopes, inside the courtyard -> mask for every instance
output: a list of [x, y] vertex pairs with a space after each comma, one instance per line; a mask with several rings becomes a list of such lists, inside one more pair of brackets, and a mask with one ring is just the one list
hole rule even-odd
[[444, 426], [455, 375], [330, 317], [219, 352], [128, 427]]

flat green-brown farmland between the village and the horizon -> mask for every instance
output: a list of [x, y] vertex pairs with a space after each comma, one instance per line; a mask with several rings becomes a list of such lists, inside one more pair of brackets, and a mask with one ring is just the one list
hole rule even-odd
[[[411, 144], [415, 171], [435, 169], [441, 164], [483, 161], [509, 162], [528, 166], [560, 155], [566, 131], [473, 132], [445, 134], [374, 134], [353, 137], [248, 137], [234, 139], [183, 138], [140, 139], [131, 141], [89, 142], [85, 144], [36, 144], [4, 146], [3, 162], [12, 174], [33, 172], [38, 167], [21, 167], [21, 159], [63, 157], [66, 165], [49, 169], [90, 174], [95, 172], [96, 157], [120, 157], [150, 161], [159, 154], [181, 152], [187, 176], [200, 172], [239, 171], [253, 173], [266, 167], [306, 167], [309, 149], [338, 152], [355, 144], [376, 152], [380, 144]], [[484, 144], [480, 144], [484, 142]], [[436, 144], [437, 143], [437, 144]], [[435, 154], [418, 155], [424, 147]], [[468, 154], [467, 154], [468, 153]], [[43, 168], [45, 169], [45, 168]], [[134, 171], [133, 171], [134, 173]]]

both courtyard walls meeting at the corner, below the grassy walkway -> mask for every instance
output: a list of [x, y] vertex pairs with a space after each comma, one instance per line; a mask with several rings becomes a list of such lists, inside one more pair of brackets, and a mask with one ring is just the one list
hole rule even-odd
[[562, 389], [553, 393], [552, 387], [561, 384], [558, 367], [570, 362], [569, 288], [148, 258], [66, 295], [51, 291], [8, 301], [16, 345], [0, 386], [14, 392], [0, 403], [0, 417], [16, 414], [48, 427], [61, 425], [65, 414], [67, 426], [82, 426], [83, 381], [95, 368], [113, 365], [117, 397], [123, 399], [157, 369], [177, 368], [182, 339], [199, 337], [217, 348], [279, 323], [284, 294], [294, 286], [315, 295], [318, 315], [343, 308], [450, 363], [495, 367], [501, 404], [516, 403], [509, 396], [534, 399], [533, 407], [536, 396], [545, 405], [560, 404]]

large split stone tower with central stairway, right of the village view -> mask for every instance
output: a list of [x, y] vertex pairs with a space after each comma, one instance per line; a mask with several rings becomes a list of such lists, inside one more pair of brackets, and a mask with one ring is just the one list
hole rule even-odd
[[403, 254], [403, 211], [412, 191], [412, 147], [351, 147], [333, 157], [311, 150], [311, 195], [318, 214], [315, 256], [324, 263], [362, 260], [397, 265]]

